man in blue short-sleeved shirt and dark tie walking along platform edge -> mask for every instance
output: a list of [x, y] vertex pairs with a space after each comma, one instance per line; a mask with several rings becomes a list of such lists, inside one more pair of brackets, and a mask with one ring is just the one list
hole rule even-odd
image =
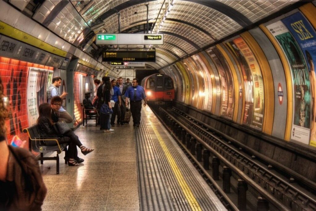
[[144, 100], [144, 106], [147, 104], [147, 98], [145, 95], [145, 90], [142, 86], [138, 85], [138, 79], [134, 78], [132, 82], [132, 86], [128, 88], [128, 90], [125, 93], [126, 97], [126, 107], [128, 106], [128, 99], [131, 101], [131, 112], [133, 117], [133, 126], [139, 127], [140, 124], [140, 111], [142, 110], [142, 100]]

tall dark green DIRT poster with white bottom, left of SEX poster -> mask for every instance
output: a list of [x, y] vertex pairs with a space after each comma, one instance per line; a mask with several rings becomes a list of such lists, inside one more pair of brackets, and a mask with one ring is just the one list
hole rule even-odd
[[281, 21], [266, 26], [282, 47], [293, 81], [293, 123], [291, 139], [309, 144], [311, 91], [307, 65], [300, 47]]

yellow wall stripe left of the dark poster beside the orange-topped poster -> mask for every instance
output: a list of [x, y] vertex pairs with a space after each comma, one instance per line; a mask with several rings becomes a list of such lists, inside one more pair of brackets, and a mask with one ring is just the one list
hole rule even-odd
[[239, 81], [237, 78], [236, 70], [234, 68], [234, 65], [232, 61], [230, 60], [228, 54], [226, 51], [222, 48], [221, 45], [217, 44], [216, 47], [218, 50], [222, 53], [225, 60], [227, 61], [227, 64], [232, 72], [233, 75], [233, 81], [234, 81], [234, 114], [233, 114], [233, 121], [237, 122], [237, 116], [238, 116], [238, 109], [239, 109]]

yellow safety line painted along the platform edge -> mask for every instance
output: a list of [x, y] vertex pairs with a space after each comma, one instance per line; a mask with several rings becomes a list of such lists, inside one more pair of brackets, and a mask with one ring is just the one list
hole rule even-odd
[[184, 177], [183, 177], [178, 165], [176, 164], [173, 156], [171, 155], [171, 153], [170, 153], [169, 149], [167, 148], [165, 142], [162, 140], [160, 133], [158, 133], [155, 125], [153, 124], [153, 122], [151, 122], [149, 120], [149, 123], [152, 126], [152, 128], [153, 128], [153, 130], [155, 132], [155, 135], [156, 135], [156, 137], [159, 140], [160, 146], [162, 147], [163, 151], [165, 152], [165, 155], [166, 155], [166, 157], [168, 159], [168, 162], [169, 162], [169, 164], [170, 164], [170, 166], [171, 166], [171, 168], [173, 170], [173, 173], [176, 176], [176, 178], [178, 180], [178, 183], [179, 183], [179, 185], [180, 185], [180, 187], [181, 187], [186, 199], [188, 200], [192, 210], [201, 210], [202, 211], [202, 209], [201, 209], [199, 203], [197, 202], [196, 198], [194, 197], [194, 195], [193, 195], [188, 183], [186, 183], [186, 181], [185, 181], [185, 179], [184, 179]]

